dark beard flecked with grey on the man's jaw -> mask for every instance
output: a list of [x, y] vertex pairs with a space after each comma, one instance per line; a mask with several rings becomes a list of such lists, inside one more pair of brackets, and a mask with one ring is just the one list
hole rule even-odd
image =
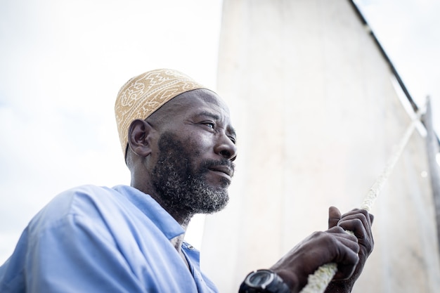
[[159, 140], [160, 154], [152, 171], [153, 186], [167, 211], [179, 213], [183, 217], [194, 214], [212, 214], [228, 204], [228, 185], [225, 179], [219, 188], [207, 184], [205, 176], [208, 167], [219, 164], [231, 166], [228, 159], [202, 162], [196, 170], [190, 158], [198, 154], [188, 152], [190, 147], [175, 138], [172, 133], [164, 133]]

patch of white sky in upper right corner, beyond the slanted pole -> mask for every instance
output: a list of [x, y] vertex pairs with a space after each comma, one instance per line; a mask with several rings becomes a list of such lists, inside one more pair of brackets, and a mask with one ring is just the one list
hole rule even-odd
[[[356, 0], [416, 103], [431, 96], [440, 125], [440, 1]], [[439, 132], [439, 131], [437, 131]]]

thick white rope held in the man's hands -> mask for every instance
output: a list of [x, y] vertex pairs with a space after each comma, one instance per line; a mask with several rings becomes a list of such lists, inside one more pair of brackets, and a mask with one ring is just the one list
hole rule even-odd
[[[396, 149], [394, 150], [392, 157], [387, 162], [387, 165], [383, 169], [382, 173], [380, 174], [380, 176], [377, 177], [375, 183], [373, 184], [373, 186], [371, 186], [370, 190], [368, 190], [368, 193], [367, 195], [365, 195], [365, 198], [363, 199], [363, 202], [361, 204], [361, 209], [370, 211], [373, 207], [377, 195], [379, 195], [380, 191], [382, 190], [385, 181], [387, 181], [389, 174], [391, 174], [394, 165], [396, 164], [401, 153], [403, 152], [403, 149], [406, 146], [406, 143], [408, 143], [411, 134], [413, 134], [415, 124], [417, 124], [417, 122], [419, 121], [421, 112], [422, 111], [420, 111], [419, 109], [415, 119], [413, 119], [411, 124], [408, 126], [408, 129], [406, 129], [405, 134], [403, 134], [401, 141], [398, 145], [396, 145]], [[347, 231], [347, 233], [352, 234], [351, 231]], [[320, 266], [315, 271], [315, 273], [313, 273], [313, 275], [309, 275], [309, 278], [307, 279], [307, 285], [299, 293], [323, 293], [332, 278], [335, 276], [336, 272], [336, 263], [326, 263], [325, 265]]]

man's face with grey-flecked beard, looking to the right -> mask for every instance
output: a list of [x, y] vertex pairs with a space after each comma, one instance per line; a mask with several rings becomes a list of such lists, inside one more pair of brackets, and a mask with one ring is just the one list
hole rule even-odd
[[236, 155], [227, 109], [213, 93], [197, 93], [200, 95], [179, 97], [177, 102], [182, 103], [172, 110], [174, 119], [157, 142], [151, 173], [162, 204], [191, 215], [226, 206]]

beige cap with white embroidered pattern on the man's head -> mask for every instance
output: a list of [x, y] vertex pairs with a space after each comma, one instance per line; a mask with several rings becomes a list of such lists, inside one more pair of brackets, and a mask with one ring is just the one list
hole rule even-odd
[[158, 69], [131, 78], [117, 94], [115, 116], [122, 152], [127, 155], [129, 126], [135, 119], [147, 119], [164, 103], [193, 89], [206, 89], [176, 70]]

